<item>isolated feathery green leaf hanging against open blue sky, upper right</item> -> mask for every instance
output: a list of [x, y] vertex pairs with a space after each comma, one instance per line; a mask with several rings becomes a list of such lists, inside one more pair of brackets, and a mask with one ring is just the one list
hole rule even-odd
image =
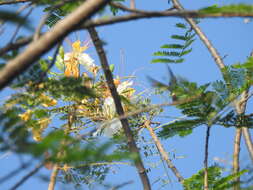
[[161, 46], [162, 50], [153, 54], [159, 58], [153, 59], [152, 63], [182, 63], [184, 62], [183, 57], [192, 51], [192, 48], [189, 48], [194, 42], [195, 37], [192, 28], [184, 23], [177, 23], [175, 26], [178, 29], [183, 30], [184, 34], [171, 35], [171, 39], [182, 43], [165, 44]]

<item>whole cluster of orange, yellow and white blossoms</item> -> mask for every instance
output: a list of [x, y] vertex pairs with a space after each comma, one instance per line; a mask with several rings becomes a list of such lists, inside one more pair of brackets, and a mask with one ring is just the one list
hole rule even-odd
[[[116, 119], [117, 113], [114, 100], [105, 77], [100, 73], [100, 67], [95, 65], [94, 60], [84, 52], [87, 49], [88, 45], [81, 45], [81, 42], [77, 40], [72, 43], [72, 50], [70, 52], [65, 53], [64, 50], [60, 51], [56, 59], [56, 66], [60, 64], [63, 69], [61, 69], [62, 73], [57, 75], [60, 77], [82, 78], [84, 81], [83, 85], [95, 92], [96, 97], [85, 96], [81, 100], [72, 99], [68, 110], [75, 110], [75, 117], [73, 118], [92, 121], [97, 126], [97, 132], [94, 135], [104, 134], [111, 137], [121, 131], [121, 122], [119, 119]], [[92, 76], [92, 79], [89, 76]], [[133, 81], [122, 81], [119, 77], [116, 77], [114, 83], [119, 95], [126, 100], [123, 101], [124, 110], [131, 110], [131, 102], [133, 102], [133, 95], [135, 93], [135, 89], [132, 87]], [[41, 109], [49, 110], [52, 107], [57, 109], [57, 106], [61, 106], [59, 102], [62, 102], [62, 99], [56, 100], [51, 97], [50, 93], [47, 93], [45, 84], [41, 83], [37, 88], [39, 90], [45, 89], [45, 91], [37, 96]], [[51, 119], [47, 118], [49, 116], [37, 118], [35, 111], [31, 109], [20, 114], [19, 117], [27, 123], [27, 126], [30, 126], [28, 128], [32, 131], [33, 138], [36, 141], [42, 139], [42, 133], [51, 122]], [[76, 130], [82, 130], [82, 127]]]

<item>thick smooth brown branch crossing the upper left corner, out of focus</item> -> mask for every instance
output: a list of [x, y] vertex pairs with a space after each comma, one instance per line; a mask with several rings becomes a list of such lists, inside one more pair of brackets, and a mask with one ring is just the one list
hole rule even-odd
[[8, 85], [15, 77], [30, 67], [45, 52], [49, 51], [58, 41], [68, 35], [74, 28], [90, 18], [109, 0], [87, 0], [65, 19], [58, 22], [49, 32], [43, 35], [15, 59], [11, 60], [0, 71], [0, 89]]

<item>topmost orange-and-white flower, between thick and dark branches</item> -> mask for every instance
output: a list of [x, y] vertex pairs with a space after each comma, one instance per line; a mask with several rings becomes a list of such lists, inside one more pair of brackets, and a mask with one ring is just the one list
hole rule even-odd
[[79, 65], [83, 65], [85, 69], [94, 75], [98, 71], [98, 67], [94, 64], [94, 60], [86, 53], [83, 53], [88, 48], [87, 45], [81, 46], [80, 40], [72, 44], [72, 52], [65, 53], [65, 76], [79, 77]]

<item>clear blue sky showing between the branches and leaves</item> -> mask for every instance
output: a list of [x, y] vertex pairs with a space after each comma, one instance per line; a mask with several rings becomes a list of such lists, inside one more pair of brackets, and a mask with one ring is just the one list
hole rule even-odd
[[[169, 8], [167, 0], [136, 0], [137, 8], [148, 10], [164, 10]], [[231, 1], [181, 1], [185, 8], [195, 9], [203, 6], [213, 5], [217, 3], [219, 5], [229, 3], [252, 3], [251, 0], [231, 0]], [[37, 11], [33, 14], [33, 21], [38, 22], [41, 17], [41, 11]], [[159, 49], [159, 47], [165, 43], [169, 43], [170, 35], [177, 33], [174, 25], [176, 22], [182, 21], [178, 18], [160, 18], [160, 19], [142, 19], [138, 21], [131, 21], [127, 23], [120, 23], [111, 26], [99, 27], [98, 31], [102, 39], [108, 44], [105, 46], [108, 60], [110, 64], [115, 64], [116, 73], [120, 76], [131, 75], [136, 72], [137, 80], [136, 85], [139, 86], [139, 90], [143, 88], [151, 88], [147, 76], [151, 76], [160, 81], [167, 82], [167, 70], [163, 64], [151, 64], [153, 58], [152, 54]], [[218, 49], [221, 56], [225, 56], [225, 64], [233, 64], [237, 62], [243, 62], [246, 57], [253, 50], [253, 22], [245, 24], [242, 18], [232, 19], [202, 19], [200, 27], [206, 33], [213, 45]], [[75, 36], [75, 35], [74, 35]], [[75, 40], [75, 37], [71, 36], [70, 39]], [[85, 31], [77, 32], [77, 36], [81, 39], [87, 37]], [[3, 37], [3, 36], [2, 36]], [[6, 42], [8, 33], [4, 33], [2, 43]], [[221, 79], [219, 69], [215, 65], [210, 53], [207, 51], [202, 42], [196, 37], [196, 41], [193, 44], [193, 52], [186, 57], [186, 61], [178, 65], [170, 65], [171, 69], [176, 75], [180, 75], [188, 78], [191, 81], [204, 84], [210, 81]], [[122, 52], [124, 52], [124, 63], [121, 63]], [[94, 57], [97, 64], [98, 58], [93, 47], [90, 48], [89, 53]], [[144, 86], [144, 87], [143, 87]], [[161, 102], [158, 98], [153, 99], [154, 102]], [[252, 101], [250, 102], [247, 112], [252, 113]], [[163, 115], [175, 116], [180, 115], [175, 109], [167, 108], [166, 113]], [[164, 122], [168, 122], [170, 119], [163, 119]], [[187, 178], [196, 173], [203, 166], [203, 153], [204, 153], [204, 138], [205, 138], [204, 126], [198, 127], [194, 130], [193, 134], [186, 138], [174, 137], [163, 141], [166, 150], [172, 155], [173, 151], [177, 156], [184, 156], [185, 158], [173, 159], [173, 163], [178, 167], [182, 175]], [[211, 130], [210, 139], [210, 155], [209, 164], [214, 163], [214, 158], [219, 157], [225, 160], [232, 160], [233, 152], [233, 137], [235, 129], [225, 129], [220, 126], [214, 126]], [[248, 153], [244, 141], [242, 141], [241, 161], [249, 163]], [[154, 159], [155, 161], [155, 159]], [[0, 162], [2, 172], [4, 173], [12, 171], [17, 165], [19, 160], [9, 155], [1, 158]], [[230, 167], [230, 165], [225, 165]], [[34, 166], [31, 166], [33, 168]], [[126, 186], [122, 189], [141, 189], [137, 173], [134, 168], [128, 168], [120, 166], [120, 170], [117, 170], [116, 174], [108, 176], [107, 181], [112, 184], [119, 184], [121, 182], [133, 180], [134, 183]], [[26, 171], [27, 172], [27, 171]], [[48, 171], [42, 169], [42, 173], [47, 174]], [[17, 179], [20, 179], [22, 175], [16, 176], [13, 180], [5, 183], [1, 189], [8, 189]], [[154, 169], [151, 177], [151, 183], [159, 175], [164, 175], [163, 168]], [[38, 175], [37, 175], [38, 176]], [[176, 182], [173, 174], [169, 172], [169, 177], [172, 182]], [[159, 189], [160, 184], [155, 184], [154, 189]], [[29, 180], [22, 185], [20, 190], [27, 190], [36, 188], [38, 190], [46, 189], [47, 183], [38, 178]], [[57, 186], [57, 190], [63, 189], [62, 185]], [[67, 188], [66, 188], [67, 189]], [[97, 188], [98, 189], [98, 188]], [[178, 183], [169, 184], [166, 188], [171, 190], [182, 189]]]

